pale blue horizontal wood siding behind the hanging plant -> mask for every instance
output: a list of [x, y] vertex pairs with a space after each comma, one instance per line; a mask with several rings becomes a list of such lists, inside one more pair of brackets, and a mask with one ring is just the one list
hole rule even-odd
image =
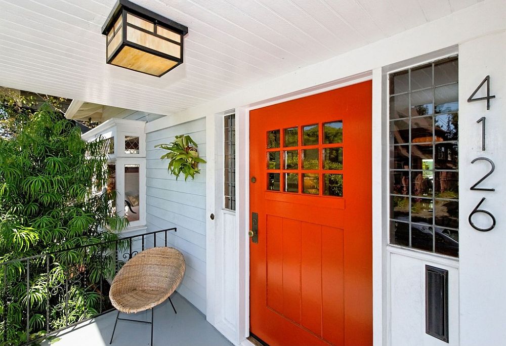
[[[139, 114], [137, 114], [139, 113]], [[142, 115], [142, 114], [144, 115]], [[129, 119], [146, 116], [136, 112]], [[178, 180], [167, 172], [165, 153], [156, 144], [170, 143], [177, 135], [190, 135], [205, 159], [205, 119], [197, 119], [146, 135], [146, 222], [148, 232], [177, 227], [167, 236], [167, 245], [183, 252], [186, 274], [178, 292], [205, 314], [205, 164], [195, 180]], [[163, 240], [162, 240], [163, 241]]]

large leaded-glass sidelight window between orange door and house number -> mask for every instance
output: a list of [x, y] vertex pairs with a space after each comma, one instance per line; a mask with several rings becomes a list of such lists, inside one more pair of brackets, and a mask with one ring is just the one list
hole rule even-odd
[[458, 60], [390, 75], [390, 243], [458, 256]]

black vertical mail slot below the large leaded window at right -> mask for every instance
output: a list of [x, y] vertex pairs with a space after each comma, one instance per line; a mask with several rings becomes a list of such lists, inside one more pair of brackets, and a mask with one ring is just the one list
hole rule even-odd
[[425, 266], [425, 332], [448, 341], [448, 271]]

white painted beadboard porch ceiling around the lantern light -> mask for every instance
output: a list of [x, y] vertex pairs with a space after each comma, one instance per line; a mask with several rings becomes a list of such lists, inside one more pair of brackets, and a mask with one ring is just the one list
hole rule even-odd
[[188, 26], [161, 78], [105, 63], [115, 0], [0, 0], [0, 85], [174, 114], [479, 0], [132, 0]]

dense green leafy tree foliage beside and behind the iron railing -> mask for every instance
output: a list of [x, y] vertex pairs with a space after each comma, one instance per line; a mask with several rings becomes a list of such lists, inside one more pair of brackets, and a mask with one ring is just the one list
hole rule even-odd
[[114, 192], [102, 193], [106, 141], [81, 140], [48, 104], [2, 103], [0, 118], [0, 345], [17, 345], [95, 315], [99, 280], [114, 265], [102, 245], [1, 264], [114, 240], [107, 230], [128, 222], [115, 214]]

